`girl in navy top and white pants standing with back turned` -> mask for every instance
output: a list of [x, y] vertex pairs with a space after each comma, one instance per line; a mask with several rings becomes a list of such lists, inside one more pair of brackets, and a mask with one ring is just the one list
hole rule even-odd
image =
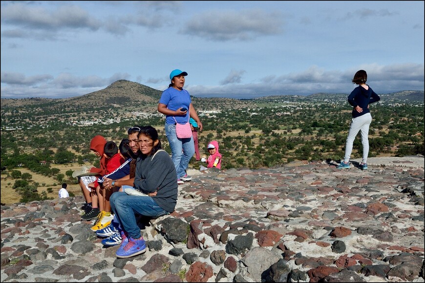
[[347, 141], [345, 143], [345, 154], [344, 160], [341, 161], [338, 169], [350, 168], [350, 155], [353, 150], [353, 142], [356, 135], [361, 133], [361, 144], [363, 145], [363, 156], [360, 164], [361, 170], [367, 169], [367, 155], [369, 154], [369, 126], [372, 122], [372, 116], [369, 111], [369, 104], [378, 102], [381, 98], [371, 87], [366, 85], [367, 73], [364, 70], [359, 70], [354, 75], [352, 80], [353, 84], [359, 85], [354, 88], [351, 94], [348, 96], [348, 103], [353, 107], [351, 115], [350, 130], [348, 131]]

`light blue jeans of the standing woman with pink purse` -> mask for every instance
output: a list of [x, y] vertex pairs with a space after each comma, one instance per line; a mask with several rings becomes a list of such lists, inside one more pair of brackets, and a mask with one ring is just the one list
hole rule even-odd
[[189, 161], [195, 153], [193, 136], [190, 138], [178, 138], [175, 133], [174, 124], [165, 124], [165, 133], [171, 148], [171, 160], [177, 171], [177, 179], [186, 175]]

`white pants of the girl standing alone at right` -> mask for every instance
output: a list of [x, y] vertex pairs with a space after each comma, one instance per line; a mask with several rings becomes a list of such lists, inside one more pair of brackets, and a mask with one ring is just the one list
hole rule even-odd
[[344, 162], [347, 163], [350, 160], [351, 152], [353, 151], [354, 138], [360, 131], [361, 144], [363, 145], [363, 160], [361, 162], [367, 163], [367, 155], [369, 154], [369, 126], [372, 122], [372, 116], [370, 113], [366, 113], [359, 117], [351, 119], [350, 131], [348, 131], [347, 141], [345, 142], [345, 155]]

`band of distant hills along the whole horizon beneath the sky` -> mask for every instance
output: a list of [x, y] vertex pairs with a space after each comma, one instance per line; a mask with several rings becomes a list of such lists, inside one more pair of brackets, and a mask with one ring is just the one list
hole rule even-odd
[[[154, 89], [127, 80], [118, 80], [110, 86], [85, 95], [70, 98], [22, 98], [1, 99], [1, 110], [9, 108], [35, 112], [78, 112], [82, 109], [123, 109], [131, 111], [145, 109], [156, 111], [162, 90]], [[379, 94], [385, 101], [424, 103], [424, 91], [404, 90], [389, 94]], [[308, 96], [274, 95], [252, 99], [197, 98], [192, 96], [197, 110], [238, 109], [255, 107], [257, 103], [286, 100], [346, 100], [347, 93], [314, 93]]]

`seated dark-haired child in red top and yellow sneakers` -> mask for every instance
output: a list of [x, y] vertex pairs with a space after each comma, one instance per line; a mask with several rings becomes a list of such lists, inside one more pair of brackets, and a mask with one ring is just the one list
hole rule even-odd
[[[121, 164], [124, 163], [124, 158], [121, 157], [120, 153], [118, 152], [118, 146], [113, 141], [108, 141], [105, 144], [104, 147], [104, 156], [106, 158], [106, 172], [105, 174], [109, 174], [113, 171], [115, 171], [117, 168], [121, 166]], [[106, 196], [106, 189], [100, 186], [100, 182], [102, 181], [103, 176], [99, 177], [94, 181], [93, 183], [89, 184], [90, 187], [95, 188], [96, 195], [99, 199], [99, 208], [100, 213], [97, 216], [96, 223], [93, 227], [91, 227], [91, 230], [96, 232], [99, 229], [102, 229], [110, 224], [111, 220], [113, 219], [113, 216], [111, 215], [111, 207], [109, 204], [109, 191], [108, 196]]]

